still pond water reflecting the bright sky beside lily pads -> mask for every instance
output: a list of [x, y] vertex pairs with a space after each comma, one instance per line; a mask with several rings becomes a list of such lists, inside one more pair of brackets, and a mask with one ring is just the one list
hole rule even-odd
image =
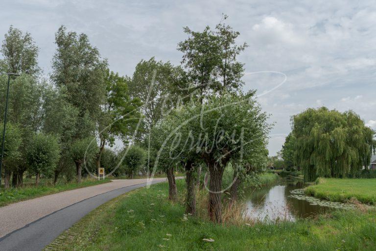
[[331, 207], [289, 197], [291, 191], [303, 188], [301, 179], [280, 179], [274, 185], [249, 192], [246, 197], [247, 215], [256, 220], [277, 219], [295, 221], [331, 210]]

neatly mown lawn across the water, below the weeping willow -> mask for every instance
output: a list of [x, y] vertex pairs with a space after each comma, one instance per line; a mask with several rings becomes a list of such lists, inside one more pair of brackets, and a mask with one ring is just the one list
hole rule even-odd
[[329, 201], [347, 202], [352, 198], [376, 204], [376, 178], [319, 178], [318, 184], [309, 186], [305, 193]]

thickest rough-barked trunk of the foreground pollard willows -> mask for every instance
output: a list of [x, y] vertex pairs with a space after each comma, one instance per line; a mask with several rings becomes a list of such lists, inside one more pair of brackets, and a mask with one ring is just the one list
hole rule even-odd
[[221, 202], [221, 189], [222, 189], [222, 176], [224, 167], [218, 165], [211, 160], [208, 162], [210, 172], [209, 183], [209, 217], [212, 222], [222, 223], [222, 202]]

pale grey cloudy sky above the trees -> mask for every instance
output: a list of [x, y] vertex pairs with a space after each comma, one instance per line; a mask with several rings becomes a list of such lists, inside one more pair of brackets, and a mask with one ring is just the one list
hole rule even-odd
[[2, 0], [0, 35], [9, 25], [30, 32], [48, 75], [54, 33], [66, 25], [86, 33], [111, 70], [132, 75], [152, 56], [179, 64], [183, 26], [214, 27], [222, 13], [241, 33], [238, 42], [249, 45], [239, 58], [246, 64], [244, 89], [258, 90], [276, 123], [270, 154], [281, 149], [290, 116], [307, 107], [352, 109], [376, 129], [375, 1]]

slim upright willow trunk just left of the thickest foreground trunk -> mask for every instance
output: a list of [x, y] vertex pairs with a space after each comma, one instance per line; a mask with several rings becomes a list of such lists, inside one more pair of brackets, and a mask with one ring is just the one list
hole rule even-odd
[[187, 204], [186, 213], [195, 215], [196, 214], [196, 194], [194, 182], [194, 167], [192, 161], [187, 161], [185, 165], [186, 169], [186, 184], [187, 184]]

